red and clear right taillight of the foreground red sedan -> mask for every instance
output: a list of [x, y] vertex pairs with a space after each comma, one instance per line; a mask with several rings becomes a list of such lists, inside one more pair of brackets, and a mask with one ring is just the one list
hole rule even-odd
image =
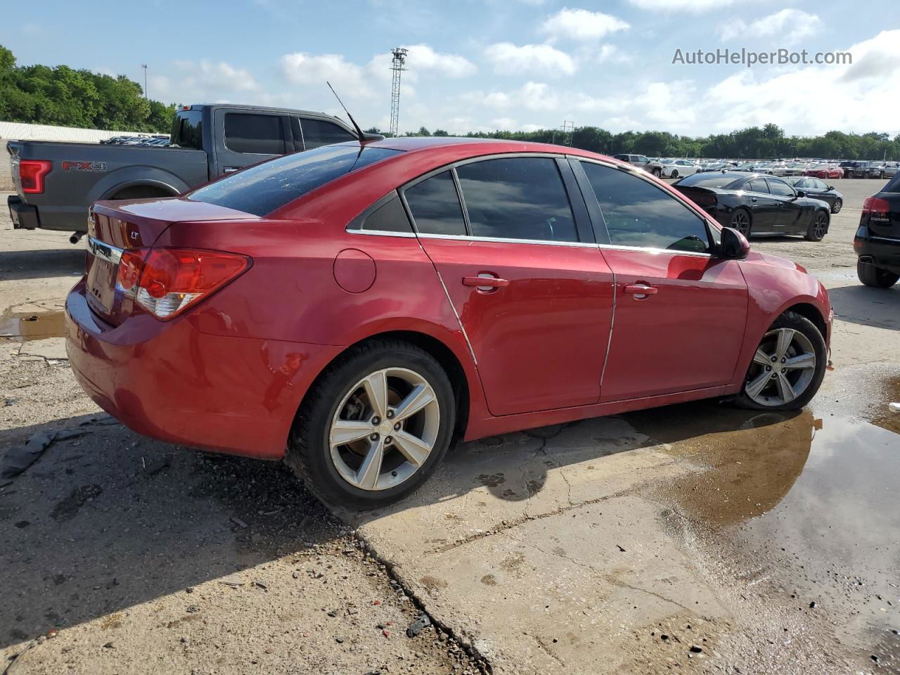
[[[144, 259], [145, 252], [131, 249], [122, 254], [119, 284], [141, 307], [164, 320], [200, 302], [250, 266], [250, 258], [236, 253], [153, 248]], [[139, 278], [133, 281], [138, 272]], [[131, 283], [130, 291], [127, 283]]]

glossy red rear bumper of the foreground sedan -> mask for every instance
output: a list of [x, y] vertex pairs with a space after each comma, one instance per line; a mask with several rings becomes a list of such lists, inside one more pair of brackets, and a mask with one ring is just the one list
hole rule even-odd
[[339, 348], [213, 336], [184, 317], [108, 326], [82, 280], [66, 301], [66, 349], [85, 392], [139, 434], [280, 459], [303, 393]]

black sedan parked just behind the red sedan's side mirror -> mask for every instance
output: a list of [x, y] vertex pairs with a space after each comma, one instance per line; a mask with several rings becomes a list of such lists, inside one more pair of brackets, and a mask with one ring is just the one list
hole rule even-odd
[[745, 237], [753, 234], [802, 234], [821, 241], [828, 232], [831, 207], [811, 199], [773, 175], [694, 174], [673, 186], [723, 225]]

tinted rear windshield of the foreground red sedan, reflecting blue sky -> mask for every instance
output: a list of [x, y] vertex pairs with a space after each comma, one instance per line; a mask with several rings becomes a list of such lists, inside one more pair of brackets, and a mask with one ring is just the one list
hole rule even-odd
[[265, 216], [321, 185], [399, 152], [360, 149], [358, 145], [324, 146], [250, 166], [189, 193], [187, 198]]

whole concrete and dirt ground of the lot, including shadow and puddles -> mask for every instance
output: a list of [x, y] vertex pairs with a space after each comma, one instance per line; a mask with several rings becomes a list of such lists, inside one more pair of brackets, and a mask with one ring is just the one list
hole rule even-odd
[[824, 241], [752, 240], [831, 293], [833, 371], [810, 407], [703, 401], [491, 437], [362, 514], [281, 464], [103, 416], [60, 337], [83, 249], [0, 214], [0, 455], [47, 435], [0, 479], [0, 666], [900, 672], [900, 288], [856, 278], [880, 184], [834, 184]]

